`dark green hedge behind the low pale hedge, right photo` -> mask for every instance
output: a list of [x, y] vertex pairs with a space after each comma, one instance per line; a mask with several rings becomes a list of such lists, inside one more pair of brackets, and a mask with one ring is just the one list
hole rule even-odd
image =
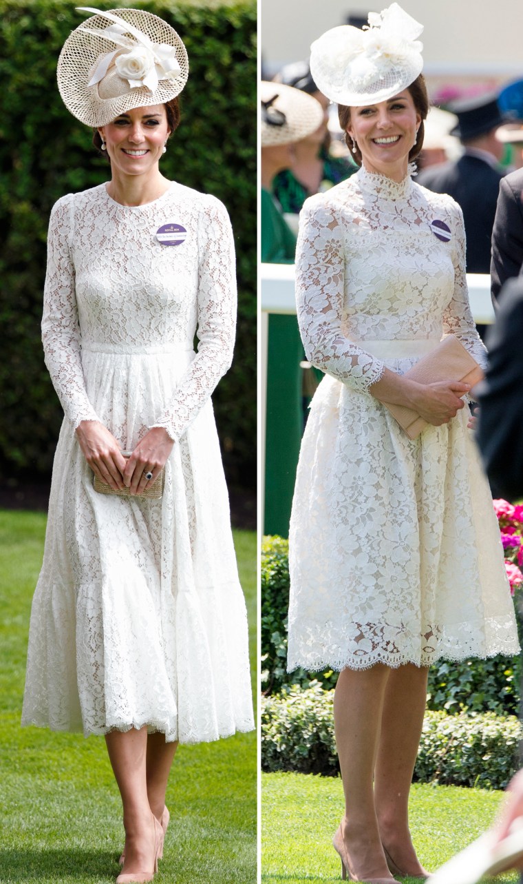
[[[262, 690], [307, 687], [311, 679], [324, 689], [336, 686], [337, 673], [287, 673], [287, 608], [289, 606], [289, 541], [264, 537], [262, 543]], [[521, 637], [521, 636], [520, 636]], [[428, 709], [459, 713], [513, 715], [519, 706], [519, 657], [441, 660], [428, 673]]]

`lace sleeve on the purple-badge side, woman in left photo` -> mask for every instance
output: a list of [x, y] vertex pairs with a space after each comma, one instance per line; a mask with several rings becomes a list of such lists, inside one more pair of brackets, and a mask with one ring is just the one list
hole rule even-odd
[[231, 222], [224, 205], [209, 202], [199, 238], [198, 353], [174, 397], [152, 426], [180, 438], [230, 368], [236, 331], [236, 264]]

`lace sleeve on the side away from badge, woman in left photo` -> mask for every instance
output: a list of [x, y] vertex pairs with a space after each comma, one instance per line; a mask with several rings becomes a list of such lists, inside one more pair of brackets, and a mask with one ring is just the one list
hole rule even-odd
[[48, 258], [43, 293], [42, 342], [45, 364], [64, 408], [76, 429], [81, 421], [97, 421], [87, 398], [80, 357], [80, 325], [70, 248], [72, 194], [53, 206], [49, 219]]

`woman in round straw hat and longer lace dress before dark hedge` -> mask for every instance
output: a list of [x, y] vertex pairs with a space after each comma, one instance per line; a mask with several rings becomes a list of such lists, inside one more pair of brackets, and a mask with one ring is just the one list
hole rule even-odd
[[152, 880], [163, 856], [178, 741], [253, 728], [209, 398], [231, 362], [236, 291], [224, 206], [159, 167], [183, 42], [147, 11], [82, 11], [58, 88], [110, 180], [62, 197], [49, 222], [42, 337], [64, 423], [22, 723], [105, 736], [126, 884]]

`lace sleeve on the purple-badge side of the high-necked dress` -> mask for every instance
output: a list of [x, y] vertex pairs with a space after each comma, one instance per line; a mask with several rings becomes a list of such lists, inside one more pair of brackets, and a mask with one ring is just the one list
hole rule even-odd
[[453, 203], [452, 264], [454, 266], [454, 292], [451, 302], [443, 313], [443, 335], [455, 334], [481, 368], [487, 367], [487, 351], [476, 331], [468, 301], [465, 262], [465, 226], [463, 212]]

